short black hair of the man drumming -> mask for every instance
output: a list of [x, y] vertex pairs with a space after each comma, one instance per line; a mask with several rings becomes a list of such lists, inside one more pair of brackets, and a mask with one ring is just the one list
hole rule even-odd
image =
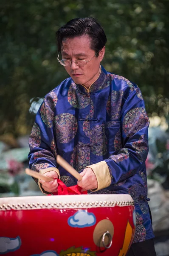
[[99, 55], [99, 51], [107, 42], [102, 26], [93, 17], [76, 18], [68, 21], [56, 32], [56, 44], [58, 52], [62, 51], [62, 43], [65, 38], [88, 35], [91, 38], [90, 48]]

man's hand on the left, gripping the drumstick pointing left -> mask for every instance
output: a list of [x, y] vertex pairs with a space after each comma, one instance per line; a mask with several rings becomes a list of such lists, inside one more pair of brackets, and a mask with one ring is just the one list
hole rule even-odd
[[[51, 178], [58, 178], [58, 174], [54, 171], [45, 172], [43, 175], [51, 177]], [[39, 182], [42, 184], [42, 188], [46, 192], [54, 193], [57, 192], [58, 183], [57, 180], [53, 181], [45, 181], [45, 180], [39, 180]]]

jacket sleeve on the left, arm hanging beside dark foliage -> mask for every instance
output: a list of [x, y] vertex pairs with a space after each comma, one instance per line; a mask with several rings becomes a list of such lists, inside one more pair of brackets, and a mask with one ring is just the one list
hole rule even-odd
[[[37, 113], [31, 134], [29, 137], [30, 152], [28, 154], [29, 168], [44, 174], [55, 171], [56, 168], [56, 142], [54, 139], [54, 106], [55, 101], [50, 93], [45, 97]], [[55, 95], [56, 99], [56, 95]], [[43, 193], [47, 193], [41, 187], [39, 180], [34, 178]]]

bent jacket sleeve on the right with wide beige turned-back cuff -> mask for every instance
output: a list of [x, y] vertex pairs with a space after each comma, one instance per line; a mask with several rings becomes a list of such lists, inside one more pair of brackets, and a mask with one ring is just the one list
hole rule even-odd
[[[148, 154], [149, 119], [146, 114], [141, 91], [136, 87], [121, 108], [121, 131], [115, 143], [121, 149], [104, 161], [90, 167], [96, 175], [98, 188], [104, 189], [131, 177], [138, 167], [145, 164]], [[121, 139], [120, 139], [121, 138]]]

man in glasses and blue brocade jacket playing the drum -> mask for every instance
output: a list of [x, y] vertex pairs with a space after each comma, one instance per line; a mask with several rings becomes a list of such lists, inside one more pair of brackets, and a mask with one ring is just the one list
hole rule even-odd
[[[145, 167], [149, 119], [141, 91], [100, 65], [107, 38], [94, 18], [70, 20], [56, 39], [58, 61], [70, 78], [39, 108], [29, 139], [30, 168], [73, 186], [76, 179], [56, 164], [60, 154], [82, 175], [78, 185], [88, 193], [130, 194], [136, 232], [128, 256], [155, 256]], [[56, 180], [36, 181], [46, 194], [57, 191]]]

